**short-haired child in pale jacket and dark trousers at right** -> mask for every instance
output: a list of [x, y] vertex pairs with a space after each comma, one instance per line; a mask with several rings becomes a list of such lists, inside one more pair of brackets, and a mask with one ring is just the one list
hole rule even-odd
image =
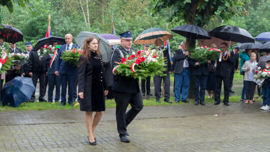
[[256, 53], [252, 52], [250, 54], [250, 60], [244, 62], [241, 70], [244, 72], [244, 81], [245, 81], [245, 103], [253, 104], [253, 92], [255, 82], [253, 81], [253, 73], [255, 72], [257, 66]]

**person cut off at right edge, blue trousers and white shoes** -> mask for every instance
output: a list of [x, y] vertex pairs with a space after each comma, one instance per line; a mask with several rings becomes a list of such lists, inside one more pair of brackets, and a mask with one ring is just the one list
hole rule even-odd
[[[270, 60], [266, 61], [265, 69], [270, 70]], [[270, 104], [270, 77], [265, 78], [262, 83], [262, 106], [260, 109], [262, 110], [269, 110]]]

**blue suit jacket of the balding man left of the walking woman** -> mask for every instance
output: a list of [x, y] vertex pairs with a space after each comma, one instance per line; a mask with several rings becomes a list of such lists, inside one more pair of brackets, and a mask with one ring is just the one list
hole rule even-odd
[[[55, 71], [59, 71], [59, 74], [67, 74], [67, 75], [77, 75], [78, 68], [77, 66], [72, 66], [68, 62], [62, 60], [60, 57], [62, 52], [65, 51], [66, 44], [60, 47], [59, 53], [57, 55], [56, 64], [55, 64]], [[79, 46], [72, 44], [71, 48], [77, 48]], [[71, 49], [70, 48], [70, 49]]]

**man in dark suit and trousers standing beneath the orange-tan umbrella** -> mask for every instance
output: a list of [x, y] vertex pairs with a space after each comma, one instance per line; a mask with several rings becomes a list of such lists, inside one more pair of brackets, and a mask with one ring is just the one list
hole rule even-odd
[[[162, 40], [160, 38], [156, 38], [154, 41], [155, 47], [157, 51], [162, 51], [161, 45], [162, 45]], [[164, 49], [162, 51], [162, 55], [165, 58], [165, 68], [166, 70], [163, 72], [163, 74], [166, 74], [165, 76], [153, 76], [153, 82], [154, 82], [154, 96], [155, 96], [155, 101], [160, 102], [160, 95], [161, 92], [161, 81], [163, 79], [164, 82], [164, 101], [171, 103], [169, 100], [169, 86], [170, 86], [170, 79], [169, 79], [169, 74], [171, 73], [171, 63], [170, 63], [170, 57], [168, 54], [168, 49]]]

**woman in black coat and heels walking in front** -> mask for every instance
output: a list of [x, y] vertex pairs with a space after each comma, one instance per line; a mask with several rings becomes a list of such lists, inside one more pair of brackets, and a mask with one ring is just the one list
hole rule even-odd
[[[78, 68], [78, 95], [80, 110], [85, 111], [85, 124], [88, 131], [88, 140], [96, 144], [94, 129], [105, 110], [104, 94], [108, 93], [104, 78], [102, 56], [98, 49], [98, 40], [95, 36], [85, 39], [82, 53], [79, 56]], [[95, 115], [92, 120], [92, 112]]]

